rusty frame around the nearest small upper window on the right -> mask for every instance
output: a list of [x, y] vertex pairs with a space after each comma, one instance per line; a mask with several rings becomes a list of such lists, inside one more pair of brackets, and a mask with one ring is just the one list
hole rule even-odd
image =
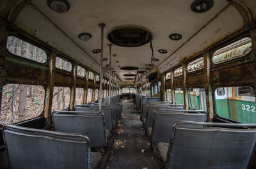
[[252, 54], [252, 48], [251, 48], [250, 52], [248, 52], [248, 54], [246, 54], [246, 55], [242, 55], [242, 56], [239, 56], [239, 57], [234, 57], [233, 59], [229, 59], [227, 61], [222, 61], [222, 62], [217, 62], [217, 63], [213, 61], [214, 53], [217, 50], [220, 50], [221, 48], [225, 48], [228, 45], [231, 45], [232, 43], [236, 43], [237, 41], [242, 40], [243, 38], [250, 38], [251, 43], [253, 43], [252, 38], [250, 37], [250, 34], [246, 34], [246, 35], [238, 36], [238, 37], [233, 38], [231, 40], [225, 41], [224, 43], [221, 43], [221, 45], [218, 45], [218, 47], [212, 49], [211, 50], [211, 62], [212, 62], [212, 64], [214, 64], [214, 66], [219, 66], [221, 64], [227, 64], [227, 63], [230, 63], [230, 62], [245, 60], [246, 58], [250, 57], [250, 55]]

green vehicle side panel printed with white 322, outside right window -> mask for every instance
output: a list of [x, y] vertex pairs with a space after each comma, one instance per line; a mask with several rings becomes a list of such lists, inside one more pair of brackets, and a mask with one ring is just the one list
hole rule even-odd
[[256, 123], [256, 103], [228, 99], [230, 119], [243, 123]]

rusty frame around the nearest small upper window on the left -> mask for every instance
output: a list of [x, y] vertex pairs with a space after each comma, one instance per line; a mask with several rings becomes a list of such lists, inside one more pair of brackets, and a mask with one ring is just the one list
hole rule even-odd
[[[40, 48], [41, 50], [44, 50], [44, 52], [45, 52], [45, 54], [46, 54], [46, 60], [45, 60], [45, 62], [34, 61], [34, 60], [32, 60], [32, 59], [28, 59], [27, 57], [22, 57], [22, 56], [20, 56], [20, 55], [16, 55], [16, 54], [13, 54], [12, 52], [10, 52], [10, 50], [8, 50], [8, 47], [7, 47], [7, 45], [8, 45], [8, 37], [10, 37], [10, 36], [13, 36], [13, 37], [15, 37], [15, 38], [18, 38], [19, 40], [25, 41], [26, 43], [29, 43], [30, 45], [33, 45], [33, 46], [35, 46], [35, 47], [37, 47], [37, 48]], [[14, 56], [17, 56], [17, 57], [20, 57], [20, 58], [22, 58], [22, 59], [26, 59], [26, 60], [28, 60], [28, 61], [35, 62], [36, 64], [45, 65], [45, 64], [48, 63], [48, 61], [49, 61], [49, 53], [50, 53], [50, 52], [49, 52], [49, 50], [48, 50], [47, 48], [45, 48], [44, 46], [40, 45], [39, 43], [36, 43], [36, 41], [30, 40], [29, 38], [27, 38], [27, 37], [25, 37], [25, 36], [22, 36], [22, 34], [8, 34], [8, 37], [6, 38], [6, 45], [5, 45], [6, 51], [8, 52], [8, 54], [14, 55]]]

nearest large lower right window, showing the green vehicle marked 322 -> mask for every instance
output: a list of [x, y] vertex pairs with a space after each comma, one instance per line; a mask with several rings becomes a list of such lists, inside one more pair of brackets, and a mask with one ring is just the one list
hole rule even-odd
[[242, 123], [256, 122], [255, 91], [251, 87], [221, 87], [225, 94], [215, 90], [216, 112], [220, 117]]

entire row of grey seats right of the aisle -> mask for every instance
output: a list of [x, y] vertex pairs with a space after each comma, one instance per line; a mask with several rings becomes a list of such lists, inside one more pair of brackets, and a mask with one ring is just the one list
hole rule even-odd
[[256, 124], [205, 122], [204, 111], [146, 100], [141, 121], [163, 168], [247, 168]]

